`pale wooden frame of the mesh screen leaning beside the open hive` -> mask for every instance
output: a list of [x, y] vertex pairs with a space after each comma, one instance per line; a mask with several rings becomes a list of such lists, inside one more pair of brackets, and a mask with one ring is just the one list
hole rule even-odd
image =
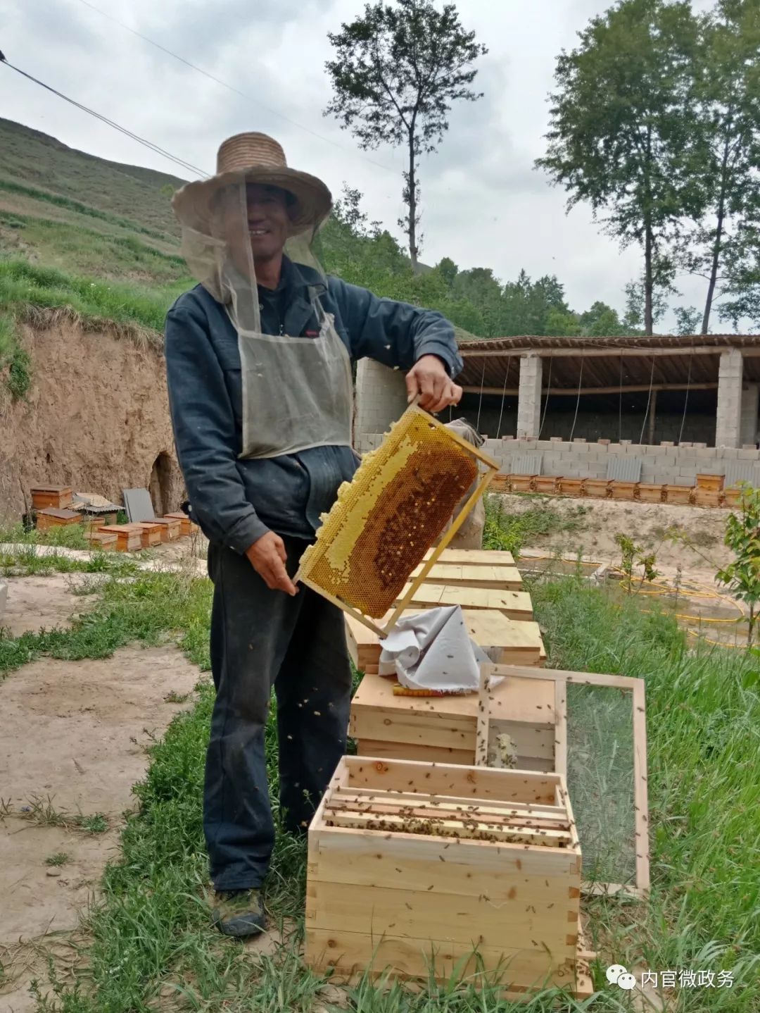
[[[624, 848], [630, 855], [630, 881], [618, 882], [606, 880], [603, 875], [595, 876], [594, 880], [585, 881], [583, 888], [588, 893], [626, 893], [637, 899], [644, 899], [650, 887], [650, 855], [649, 855], [649, 803], [647, 791], [647, 720], [644, 680], [631, 679], [626, 676], [605, 676], [586, 672], [561, 672], [550, 669], [531, 669], [516, 666], [484, 665], [481, 667], [481, 706], [478, 712], [478, 729], [476, 737], [476, 764], [486, 766], [488, 760], [488, 744], [491, 741], [492, 724], [504, 720], [494, 707], [489, 707], [488, 679], [490, 677], [508, 679], [546, 680], [555, 683], [555, 771], [568, 778], [570, 790], [578, 817], [581, 845], [584, 842], [584, 824], [590, 827], [591, 815], [586, 811], [580, 793], [574, 791], [574, 764], [578, 757], [571, 755], [568, 762], [568, 701], [571, 700], [571, 735], [573, 734], [573, 717], [578, 713], [593, 713], [608, 708], [614, 714], [626, 714], [629, 720], [629, 764], [630, 785], [628, 799], [609, 798], [610, 809], [617, 801], [617, 811], [622, 811], [624, 817], [619, 823], [619, 832], [624, 832], [622, 840]], [[606, 699], [599, 701], [584, 701], [577, 699], [579, 695], [604, 692]], [[575, 698], [575, 699], [574, 699]], [[601, 706], [599, 704], [601, 703]], [[508, 720], [508, 718], [507, 718]], [[570, 770], [569, 770], [570, 766]], [[601, 804], [601, 802], [600, 802]], [[591, 833], [591, 831], [589, 831]], [[586, 857], [591, 858], [593, 848], [586, 847]], [[621, 858], [622, 860], [622, 858]]]

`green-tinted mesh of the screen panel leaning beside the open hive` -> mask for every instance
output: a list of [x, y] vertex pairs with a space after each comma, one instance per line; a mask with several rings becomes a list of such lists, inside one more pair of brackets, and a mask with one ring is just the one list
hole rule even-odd
[[574, 683], [567, 694], [568, 792], [583, 878], [636, 883], [632, 694]]

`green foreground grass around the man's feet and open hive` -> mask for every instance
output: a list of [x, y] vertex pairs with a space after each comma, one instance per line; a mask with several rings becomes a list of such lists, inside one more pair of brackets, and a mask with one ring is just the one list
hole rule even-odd
[[[38, 641], [37, 650], [105, 656], [130, 639], [170, 635], [207, 668], [206, 580], [146, 574], [106, 583], [102, 595], [94, 612], [55, 640]], [[594, 969], [602, 991], [591, 1008], [628, 1009], [625, 997], [604, 987], [603, 968], [614, 960], [653, 970], [730, 969], [733, 989], [683, 990], [679, 1013], [754, 1013], [760, 1007], [760, 878], [752, 857], [760, 853], [756, 663], [739, 651], [689, 652], [673, 617], [645, 614], [635, 600], [620, 605], [576, 578], [536, 583], [533, 596], [553, 666], [624, 673], [647, 684], [652, 897], [648, 906], [584, 903], [600, 950]], [[39, 1011], [306, 1011], [320, 1001], [333, 1008], [324, 982], [297, 955], [302, 842], [278, 834], [265, 894], [270, 919], [293, 933], [287, 945], [260, 959], [209, 928], [200, 799], [214, 691], [205, 681], [197, 691], [194, 707], [151, 748], [148, 773], [135, 788], [140, 809], [128, 817], [121, 857], [107, 867], [102, 900], [87, 918], [87, 973], [74, 987], [59, 983], [52, 1000], [39, 1000]], [[266, 756], [273, 780], [272, 720]], [[276, 813], [275, 798], [273, 805]], [[468, 984], [414, 995], [400, 986], [383, 992], [368, 981], [346, 1003], [356, 1013], [582, 1008], [567, 999], [553, 1005], [547, 997], [500, 1003], [488, 989], [479, 998]]]

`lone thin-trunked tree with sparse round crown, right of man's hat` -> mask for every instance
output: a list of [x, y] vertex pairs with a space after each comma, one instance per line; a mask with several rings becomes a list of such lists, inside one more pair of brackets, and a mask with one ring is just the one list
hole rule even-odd
[[363, 16], [339, 32], [329, 32], [335, 51], [326, 64], [333, 98], [325, 115], [335, 115], [363, 149], [405, 145], [406, 218], [399, 225], [409, 237], [409, 256], [417, 269], [421, 244], [420, 155], [431, 153], [448, 130], [451, 103], [474, 102], [483, 93], [470, 88], [478, 71], [474, 61], [488, 50], [466, 31], [452, 3], [437, 11], [430, 0], [397, 0], [397, 6], [365, 4]]

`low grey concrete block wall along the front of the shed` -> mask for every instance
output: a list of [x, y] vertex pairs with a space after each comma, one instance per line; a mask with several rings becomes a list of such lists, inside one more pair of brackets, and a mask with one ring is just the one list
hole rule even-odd
[[[371, 434], [360, 439], [359, 452], [374, 450], [383, 436]], [[483, 450], [499, 464], [499, 470], [512, 471], [516, 455], [542, 455], [541, 474], [566, 478], [606, 478], [612, 458], [635, 456], [642, 459], [643, 482], [668, 485], [694, 485], [698, 474], [724, 475], [729, 461], [753, 464], [756, 484], [760, 487], [760, 451], [755, 448], [686, 446], [648, 447], [642, 444], [580, 443], [558, 440], [487, 440]]]

